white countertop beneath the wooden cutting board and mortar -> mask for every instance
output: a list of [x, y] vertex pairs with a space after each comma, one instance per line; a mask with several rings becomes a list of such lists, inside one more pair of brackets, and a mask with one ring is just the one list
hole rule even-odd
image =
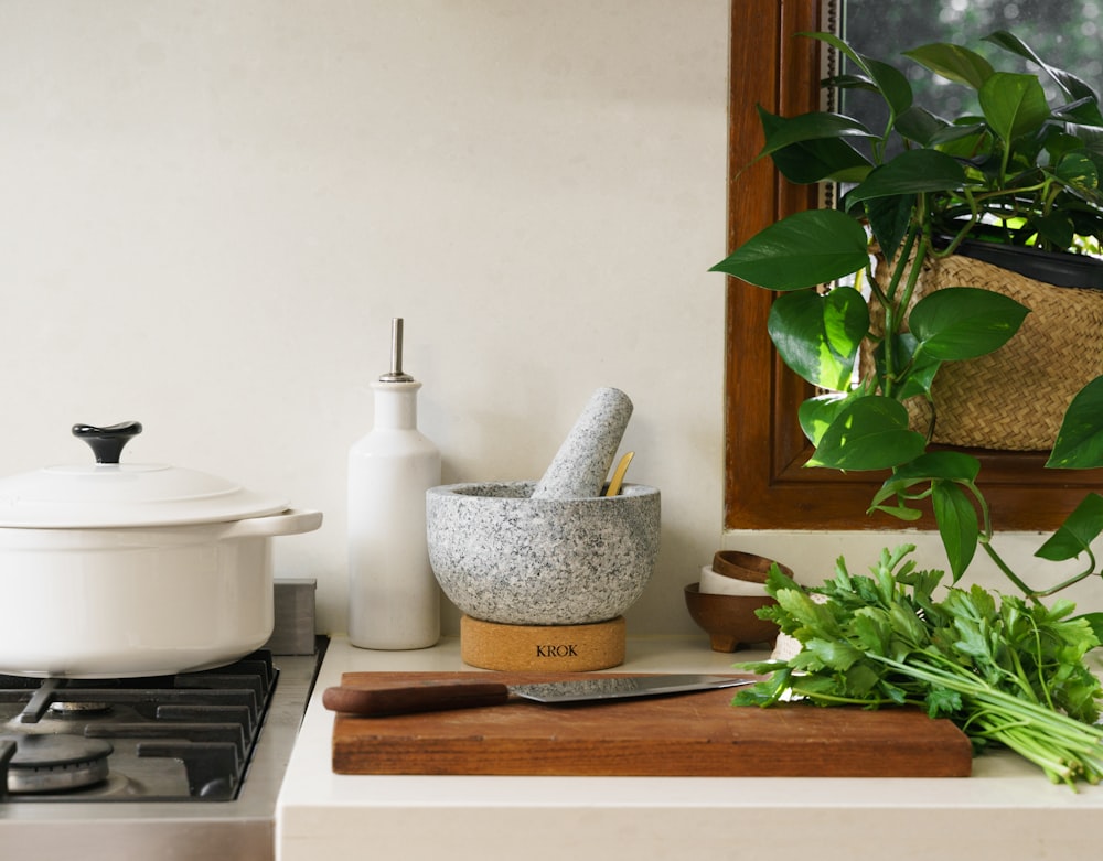
[[[617, 670], [724, 672], [757, 657], [703, 638], [630, 638]], [[279, 798], [281, 861], [1037, 861], [1094, 851], [1103, 825], [1103, 786], [1053, 786], [1006, 753], [978, 757], [968, 778], [335, 775], [321, 692], [371, 670], [472, 668], [457, 639], [416, 652], [331, 642]]]

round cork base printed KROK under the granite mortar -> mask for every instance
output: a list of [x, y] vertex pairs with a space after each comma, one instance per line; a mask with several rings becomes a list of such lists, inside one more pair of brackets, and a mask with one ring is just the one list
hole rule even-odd
[[503, 625], [460, 618], [460, 657], [480, 669], [585, 672], [624, 663], [624, 617], [590, 625]]

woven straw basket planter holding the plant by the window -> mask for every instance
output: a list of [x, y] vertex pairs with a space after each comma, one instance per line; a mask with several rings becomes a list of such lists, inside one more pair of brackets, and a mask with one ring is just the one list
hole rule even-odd
[[[888, 282], [879, 261], [877, 282]], [[1045, 451], [1053, 445], [1073, 396], [1103, 374], [1103, 292], [1053, 287], [968, 257], [928, 260], [913, 302], [946, 287], [977, 287], [1010, 297], [1030, 309], [1002, 348], [967, 362], [946, 362], [932, 388], [932, 442], [1005, 451]], [[874, 302], [871, 327], [882, 331]], [[863, 351], [863, 372], [871, 362]], [[912, 428], [930, 424], [930, 405], [908, 405]]]

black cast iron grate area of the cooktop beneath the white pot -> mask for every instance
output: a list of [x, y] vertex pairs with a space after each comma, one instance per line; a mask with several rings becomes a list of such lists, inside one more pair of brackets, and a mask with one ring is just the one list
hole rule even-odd
[[267, 650], [179, 676], [0, 675], [0, 800], [232, 800], [278, 675]]

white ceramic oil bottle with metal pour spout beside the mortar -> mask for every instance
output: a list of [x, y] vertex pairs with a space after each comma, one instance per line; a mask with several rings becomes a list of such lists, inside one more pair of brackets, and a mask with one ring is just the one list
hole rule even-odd
[[392, 321], [390, 372], [372, 384], [372, 432], [349, 452], [349, 639], [375, 649], [440, 638], [440, 588], [429, 567], [425, 492], [440, 452], [417, 429], [421, 384], [403, 373], [403, 321]]

